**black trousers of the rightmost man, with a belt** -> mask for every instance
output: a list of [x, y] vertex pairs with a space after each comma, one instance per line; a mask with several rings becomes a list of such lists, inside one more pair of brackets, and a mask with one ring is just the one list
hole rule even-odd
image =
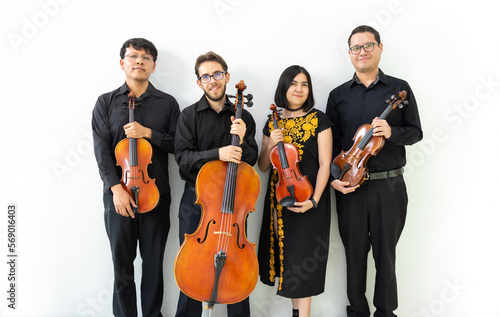
[[406, 219], [403, 176], [366, 181], [355, 192], [336, 192], [339, 231], [347, 260], [347, 316], [369, 317], [365, 296], [367, 257], [375, 262], [375, 317], [396, 316], [396, 245]]

